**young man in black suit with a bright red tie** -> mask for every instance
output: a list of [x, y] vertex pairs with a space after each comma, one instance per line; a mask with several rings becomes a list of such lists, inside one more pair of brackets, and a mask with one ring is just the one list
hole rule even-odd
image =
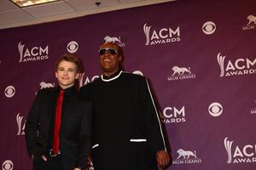
[[59, 86], [38, 91], [25, 128], [34, 170], [85, 169], [92, 106], [79, 97], [75, 87], [81, 71], [80, 60], [65, 54], [55, 65]]

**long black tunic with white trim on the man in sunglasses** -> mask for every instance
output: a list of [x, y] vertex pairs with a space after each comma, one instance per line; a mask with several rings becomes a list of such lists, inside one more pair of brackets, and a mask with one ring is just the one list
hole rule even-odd
[[95, 170], [156, 170], [155, 153], [166, 150], [146, 77], [116, 72], [80, 88], [93, 102]]

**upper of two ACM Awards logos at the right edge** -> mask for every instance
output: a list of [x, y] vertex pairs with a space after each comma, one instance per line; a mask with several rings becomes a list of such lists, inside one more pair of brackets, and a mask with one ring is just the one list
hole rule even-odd
[[256, 73], [256, 58], [239, 58], [236, 60], [228, 60], [225, 64], [226, 56], [217, 55], [218, 65], [220, 68], [219, 77], [231, 77], [239, 75], [249, 75]]

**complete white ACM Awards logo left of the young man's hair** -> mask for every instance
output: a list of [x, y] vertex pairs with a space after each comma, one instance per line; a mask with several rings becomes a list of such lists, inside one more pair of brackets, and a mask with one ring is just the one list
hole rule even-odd
[[49, 59], [48, 45], [46, 47], [38, 46], [38, 47], [32, 47], [32, 48], [25, 48], [25, 44], [22, 44], [21, 42], [19, 42], [18, 49], [20, 53], [20, 60], [19, 60], [20, 63]]

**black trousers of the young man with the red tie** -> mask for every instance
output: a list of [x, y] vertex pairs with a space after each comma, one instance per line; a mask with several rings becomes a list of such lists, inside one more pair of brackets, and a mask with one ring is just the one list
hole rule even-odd
[[33, 160], [33, 170], [62, 170], [61, 155], [49, 156], [44, 155], [47, 161], [42, 158]]

